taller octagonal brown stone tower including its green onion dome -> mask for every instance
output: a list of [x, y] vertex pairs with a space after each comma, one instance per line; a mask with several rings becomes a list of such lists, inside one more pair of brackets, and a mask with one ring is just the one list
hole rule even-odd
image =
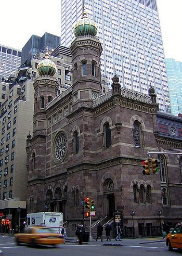
[[101, 44], [96, 37], [97, 26], [83, 17], [74, 27], [76, 39], [71, 44], [73, 56], [73, 108], [83, 104], [92, 106], [92, 101], [101, 95], [100, 56]]

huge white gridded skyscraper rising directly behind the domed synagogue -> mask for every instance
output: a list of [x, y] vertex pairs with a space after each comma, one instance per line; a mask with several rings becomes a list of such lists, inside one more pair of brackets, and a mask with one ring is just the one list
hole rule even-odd
[[111, 83], [116, 73], [123, 88], [140, 93], [152, 85], [160, 111], [171, 113], [156, 0], [61, 0], [61, 45], [74, 40], [83, 9], [98, 26], [102, 76]]

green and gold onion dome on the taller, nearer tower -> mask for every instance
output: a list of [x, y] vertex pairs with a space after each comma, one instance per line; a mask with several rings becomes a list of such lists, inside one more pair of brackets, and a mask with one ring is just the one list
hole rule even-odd
[[92, 35], [96, 36], [97, 34], [97, 26], [93, 20], [87, 18], [87, 14], [83, 11], [83, 17], [81, 20], [77, 21], [74, 26], [74, 35], [76, 37], [82, 35]]

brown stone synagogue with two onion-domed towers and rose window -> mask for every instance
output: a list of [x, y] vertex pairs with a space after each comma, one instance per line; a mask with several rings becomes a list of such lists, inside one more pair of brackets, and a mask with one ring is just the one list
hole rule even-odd
[[[141, 227], [160, 225], [158, 211], [170, 223], [179, 221], [182, 160], [164, 152], [182, 148], [181, 119], [158, 112], [153, 88], [149, 96], [122, 89], [116, 75], [102, 94], [97, 27], [84, 14], [74, 31], [72, 87], [57, 96], [54, 62], [47, 56], [37, 66], [27, 138], [28, 213], [45, 206], [62, 211], [69, 235], [82, 220], [85, 197], [95, 201], [93, 222], [118, 210], [123, 226], [132, 226], [133, 210], [136, 236]], [[148, 151], [161, 151], [151, 155], [160, 160], [155, 175], [142, 175]]]

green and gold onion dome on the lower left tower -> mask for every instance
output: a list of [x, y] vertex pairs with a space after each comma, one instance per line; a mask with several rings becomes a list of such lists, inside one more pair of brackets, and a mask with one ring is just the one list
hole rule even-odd
[[37, 73], [39, 75], [50, 75], [54, 76], [57, 68], [53, 61], [49, 59], [49, 54], [46, 52], [45, 58], [41, 60], [37, 65]]

